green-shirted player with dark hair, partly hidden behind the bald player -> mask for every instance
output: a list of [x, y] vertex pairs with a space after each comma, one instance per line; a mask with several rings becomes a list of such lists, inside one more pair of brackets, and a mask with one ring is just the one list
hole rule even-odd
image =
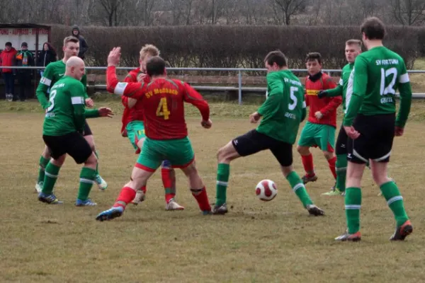
[[[48, 90], [50, 86], [53, 86], [56, 81], [58, 81], [62, 76], [64, 76], [65, 66], [67, 64], [68, 59], [72, 56], [77, 56], [79, 52], [78, 38], [72, 36], [65, 37], [64, 46], [62, 47], [62, 50], [64, 52], [63, 59], [57, 62], [52, 62], [47, 65], [43, 76], [40, 79], [40, 83], [38, 84], [37, 91], [35, 93], [43, 109], [46, 109], [49, 106], [49, 101], [47, 100], [47, 98], [49, 97]], [[93, 100], [91, 100], [91, 98], [89, 98], [86, 93], [86, 81], [86, 74], [84, 74], [81, 79], [81, 83], [83, 83], [84, 85], [84, 99], [89, 107], [93, 107]], [[98, 153], [94, 146], [93, 134], [89, 125], [86, 122], [84, 123], [84, 138], [87, 140], [87, 142], [89, 142], [96, 156], [98, 156]], [[40, 157], [40, 170], [38, 171], [38, 181], [35, 184], [35, 190], [37, 192], [41, 192], [42, 190], [43, 180], [45, 178], [45, 168], [47, 166], [47, 163], [49, 163], [49, 160], [50, 152], [48, 151], [47, 146], [45, 146], [45, 149]], [[96, 168], [96, 183], [101, 190], [106, 190], [106, 188], [108, 187], [106, 181], [103, 180], [101, 175], [99, 175], [98, 168]]]

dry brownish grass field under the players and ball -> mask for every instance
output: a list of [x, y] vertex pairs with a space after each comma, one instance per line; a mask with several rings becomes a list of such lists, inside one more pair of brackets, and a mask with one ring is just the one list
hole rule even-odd
[[[106, 101], [100, 105], [119, 103]], [[256, 105], [212, 104], [213, 127], [188, 118], [200, 174], [215, 201], [215, 154], [251, 129], [247, 115]], [[189, 116], [195, 116], [193, 108]], [[94, 187], [97, 207], [74, 207], [80, 167], [68, 158], [57, 181], [63, 205], [38, 202], [34, 193], [42, 151], [42, 113], [36, 102], [0, 103], [0, 282], [424, 282], [424, 101], [415, 101], [404, 137], [395, 139], [390, 175], [404, 196], [414, 233], [403, 243], [388, 238], [395, 221], [378, 197], [369, 171], [363, 180], [360, 243], [336, 243], [344, 231], [342, 197], [320, 194], [333, 185], [326, 161], [313, 150], [319, 180], [307, 185], [312, 200], [327, 213], [309, 216], [269, 152], [232, 163], [225, 216], [202, 216], [177, 173], [177, 200], [183, 212], [164, 210], [164, 190], [155, 173], [147, 200], [113, 221], [95, 221], [113, 204], [136, 157], [120, 137], [120, 115], [90, 120], [100, 153], [100, 171], [109, 187]], [[294, 155], [295, 170], [302, 165]], [[419, 169], [416, 170], [415, 168]], [[278, 185], [272, 202], [254, 188], [270, 178]]]

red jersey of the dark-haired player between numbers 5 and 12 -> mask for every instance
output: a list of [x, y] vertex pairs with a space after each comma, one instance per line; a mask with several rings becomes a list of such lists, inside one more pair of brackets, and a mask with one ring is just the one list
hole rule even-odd
[[[319, 91], [335, 88], [336, 84], [327, 74], [320, 72], [305, 79], [305, 101], [310, 107], [308, 121], [314, 124], [330, 125], [336, 127], [336, 108], [342, 103], [341, 97], [319, 98]], [[322, 119], [317, 119], [314, 113], [320, 111]]]

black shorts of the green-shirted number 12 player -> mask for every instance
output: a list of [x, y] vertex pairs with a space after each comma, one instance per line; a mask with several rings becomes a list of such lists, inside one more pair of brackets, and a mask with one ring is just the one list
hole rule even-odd
[[390, 161], [395, 134], [395, 114], [365, 116], [358, 114], [353, 123], [360, 133], [357, 139], [348, 139], [348, 161], [368, 163]]

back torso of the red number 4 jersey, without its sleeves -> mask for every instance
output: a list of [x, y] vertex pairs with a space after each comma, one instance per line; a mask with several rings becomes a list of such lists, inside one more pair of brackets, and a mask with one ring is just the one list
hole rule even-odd
[[154, 79], [147, 85], [142, 103], [145, 133], [149, 139], [183, 139], [187, 136], [185, 95], [185, 85], [178, 80]]

